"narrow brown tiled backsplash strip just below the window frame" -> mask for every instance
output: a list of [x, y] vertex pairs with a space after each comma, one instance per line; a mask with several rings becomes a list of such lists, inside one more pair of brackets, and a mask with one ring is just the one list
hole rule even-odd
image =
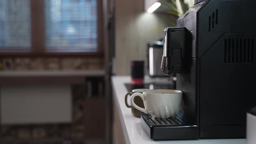
[[103, 67], [103, 59], [98, 57], [0, 59], [1, 70], [85, 70]]

